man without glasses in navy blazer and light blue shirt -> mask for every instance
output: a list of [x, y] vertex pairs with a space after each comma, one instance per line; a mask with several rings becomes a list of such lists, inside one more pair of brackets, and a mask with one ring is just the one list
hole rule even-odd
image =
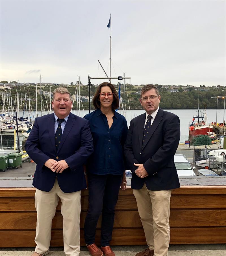
[[81, 189], [86, 188], [82, 165], [93, 152], [89, 121], [72, 114], [71, 94], [66, 88], [53, 92], [53, 114], [37, 117], [25, 150], [37, 164], [33, 186], [37, 244], [32, 256], [49, 253], [51, 224], [60, 198], [63, 215], [64, 252], [80, 252], [79, 219]]

